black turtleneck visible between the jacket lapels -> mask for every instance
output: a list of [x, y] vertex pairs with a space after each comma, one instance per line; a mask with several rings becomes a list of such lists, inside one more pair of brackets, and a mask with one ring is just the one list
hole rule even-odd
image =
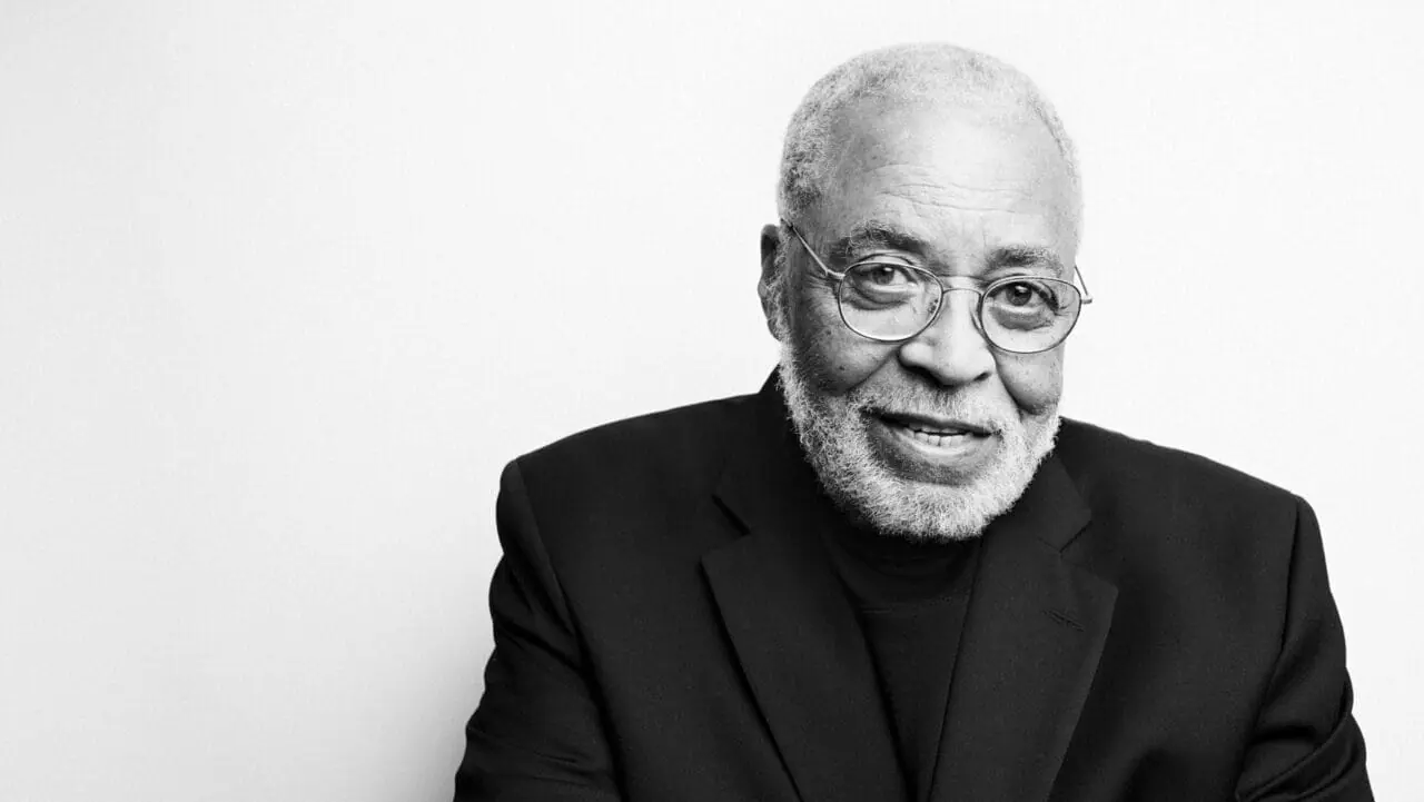
[[978, 540], [910, 543], [837, 527], [826, 541], [880, 677], [910, 798], [927, 799]]

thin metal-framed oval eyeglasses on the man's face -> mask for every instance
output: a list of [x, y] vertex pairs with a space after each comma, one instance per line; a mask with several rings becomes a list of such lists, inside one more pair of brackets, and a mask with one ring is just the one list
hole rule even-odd
[[[1084, 303], [1092, 303], [1087, 282], [1082, 291], [1071, 281], [1040, 276], [1005, 276], [988, 286], [950, 286], [924, 268], [886, 256], [862, 259], [836, 272], [820, 261], [806, 238], [789, 221], [790, 229], [816, 266], [834, 282], [836, 305], [846, 328], [876, 342], [904, 342], [928, 329], [944, 309], [944, 296], [956, 289], [978, 295], [974, 326], [984, 339], [1010, 353], [1040, 353], [1058, 346], [1074, 325]], [[1082, 274], [1074, 265], [1074, 275]]]

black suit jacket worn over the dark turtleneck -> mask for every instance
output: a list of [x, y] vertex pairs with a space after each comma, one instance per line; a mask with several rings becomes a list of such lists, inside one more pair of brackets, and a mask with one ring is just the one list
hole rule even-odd
[[[906, 798], [778, 387], [503, 476], [459, 801]], [[1065, 422], [984, 533], [934, 802], [1370, 799], [1299, 497]]]

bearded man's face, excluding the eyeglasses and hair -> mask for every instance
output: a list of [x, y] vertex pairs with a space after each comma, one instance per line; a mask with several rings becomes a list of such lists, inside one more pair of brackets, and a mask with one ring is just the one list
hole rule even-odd
[[[1071, 278], [1071, 185], [1042, 123], [863, 104], [837, 135], [846, 147], [823, 199], [792, 221], [832, 269], [874, 255], [963, 276], [954, 286]], [[1062, 346], [994, 349], [974, 323], [978, 295], [960, 291], [910, 340], [862, 338], [840, 321], [834, 283], [792, 242], [786, 295], [769, 313], [783, 330], [787, 403], [822, 483], [889, 534], [978, 534], [1052, 446]]]

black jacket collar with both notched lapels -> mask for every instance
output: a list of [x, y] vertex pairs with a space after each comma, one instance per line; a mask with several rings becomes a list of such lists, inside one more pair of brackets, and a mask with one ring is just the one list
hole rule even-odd
[[[820, 537], [843, 523], [775, 376], [752, 406], [716, 489], [745, 536], [703, 556], [712, 595], [802, 798], [904, 799], [870, 652]], [[1116, 597], [1062, 558], [1088, 523], [1049, 456], [985, 530], [931, 801], [1047, 798]]]

